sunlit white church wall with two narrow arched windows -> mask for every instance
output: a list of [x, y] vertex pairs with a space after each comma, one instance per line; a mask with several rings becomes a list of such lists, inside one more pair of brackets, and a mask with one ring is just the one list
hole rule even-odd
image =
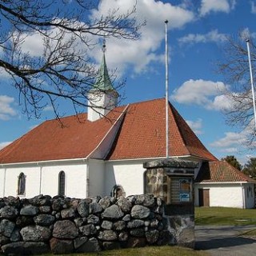
[[[8, 166], [0, 170], [0, 197], [19, 196], [20, 198], [33, 198], [38, 194], [58, 194], [58, 174], [65, 172], [65, 195], [68, 197], [86, 198], [87, 170], [85, 163], [37, 163], [18, 166]], [[6, 174], [5, 174], [6, 172]], [[18, 194], [18, 176], [25, 174], [25, 194]], [[6, 176], [5, 176], [6, 175]]]

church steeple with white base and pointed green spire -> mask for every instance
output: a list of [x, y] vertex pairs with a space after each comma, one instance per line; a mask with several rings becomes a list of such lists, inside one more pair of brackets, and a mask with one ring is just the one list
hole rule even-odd
[[106, 41], [102, 45], [102, 63], [98, 70], [98, 78], [88, 94], [88, 120], [94, 122], [113, 110], [118, 104], [118, 92], [110, 80], [106, 66]]

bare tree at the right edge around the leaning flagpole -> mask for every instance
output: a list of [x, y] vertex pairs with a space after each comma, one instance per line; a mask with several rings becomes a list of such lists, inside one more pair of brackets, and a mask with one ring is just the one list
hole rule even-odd
[[248, 34], [245, 38], [242, 32], [238, 34], [238, 38], [227, 38], [224, 60], [218, 64], [218, 71], [224, 74], [226, 83], [230, 85], [230, 90], [225, 92], [230, 102], [230, 109], [224, 111], [226, 121], [231, 126], [246, 130], [248, 146], [251, 146], [256, 140], [256, 130], [246, 39], [250, 39], [250, 58], [256, 81], [256, 45], [254, 38], [250, 38]]

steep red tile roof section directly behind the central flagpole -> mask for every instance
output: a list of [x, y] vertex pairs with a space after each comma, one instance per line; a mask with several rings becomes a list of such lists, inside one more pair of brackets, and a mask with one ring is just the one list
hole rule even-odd
[[[108, 159], [166, 157], [165, 107], [165, 98], [131, 104]], [[170, 156], [216, 160], [171, 105], [169, 138]]]

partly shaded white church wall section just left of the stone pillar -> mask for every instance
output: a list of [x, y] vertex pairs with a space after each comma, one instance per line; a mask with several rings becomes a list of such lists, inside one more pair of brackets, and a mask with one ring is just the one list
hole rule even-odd
[[115, 185], [122, 186], [126, 196], [144, 193], [142, 160], [106, 162], [105, 194]]

